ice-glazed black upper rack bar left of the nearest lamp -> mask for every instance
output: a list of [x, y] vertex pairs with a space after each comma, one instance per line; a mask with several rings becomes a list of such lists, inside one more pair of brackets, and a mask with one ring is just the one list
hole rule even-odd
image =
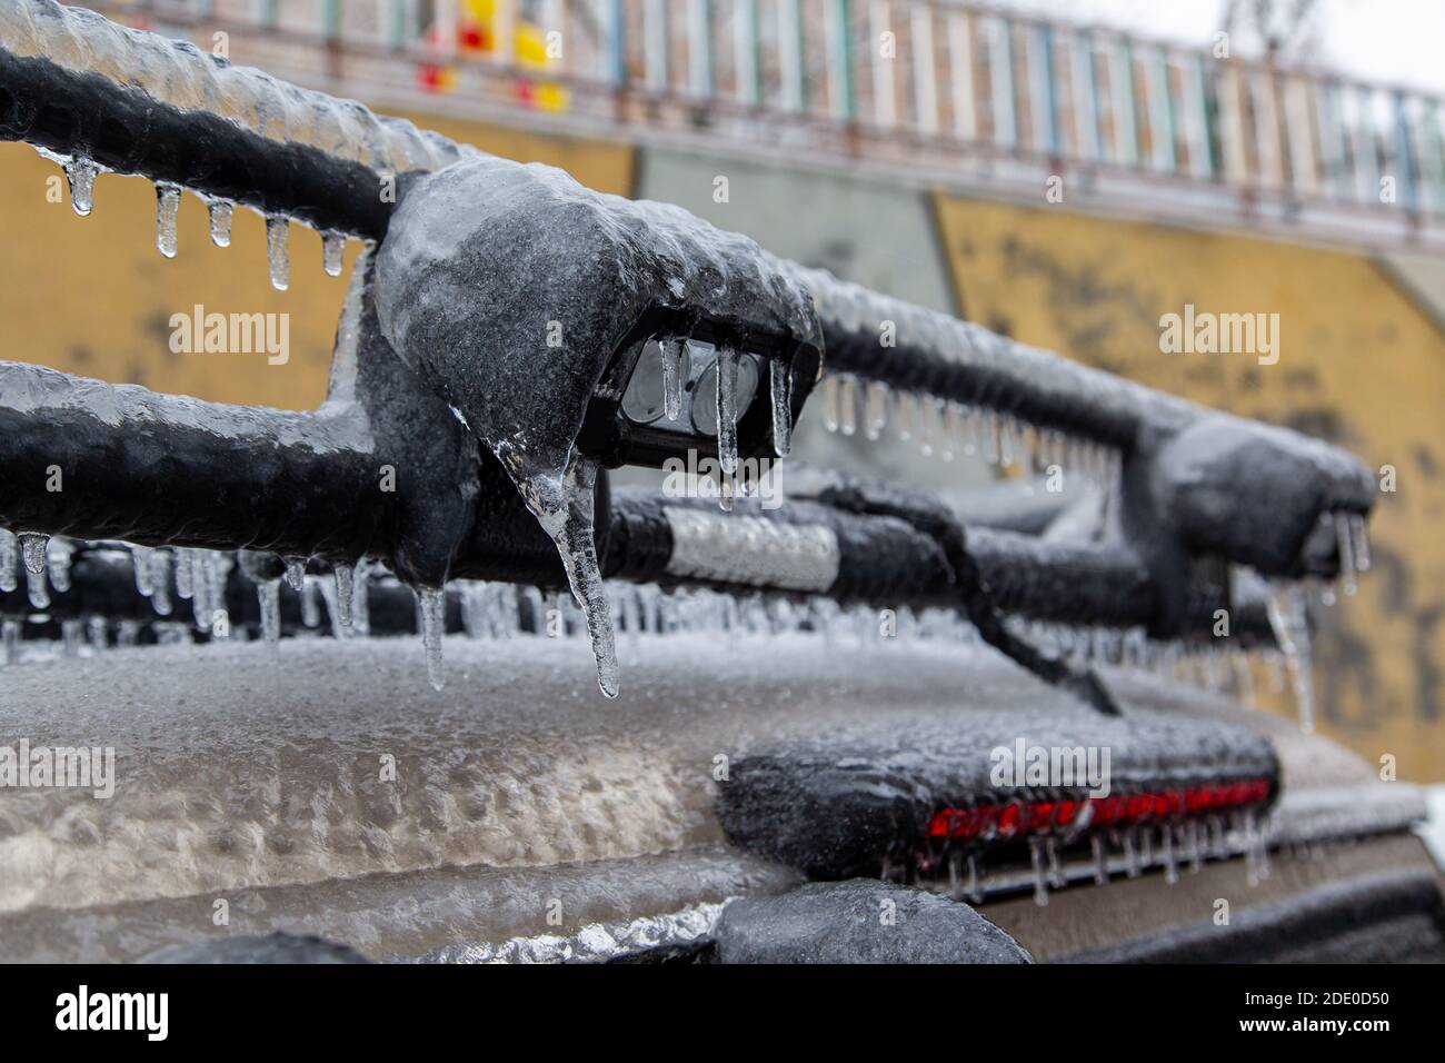
[[373, 239], [396, 175], [473, 152], [52, 0], [0, 3], [0, 137]]

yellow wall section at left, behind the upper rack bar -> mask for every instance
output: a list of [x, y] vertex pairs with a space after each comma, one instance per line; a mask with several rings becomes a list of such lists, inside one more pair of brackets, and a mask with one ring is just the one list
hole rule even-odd
[[[406, 117], [497, 155], [562, 166], [603, 191], [627, 194], [631, 187], [629, 148]], [[322, 272], [316, 233], [292, 226], [290, 288], [277, 292], [266, 266], [266, 227], [253, 211], [237, 208], [231, 246], [220, 249], [208, 237], [205, 207], [185, 195], [179, 255], [168, 260], [155, 244], [150, 182], [98, 178], [95, 210], [81, 218], [64, 179], [59, 201], [48, 198], [48, 181], [59, 172], [25, 145], [0, 145], [0, 357], [221, 402], [288, 409], [321, 402], [345, 273]], [[348, 243], [348, 268], [358, 246]], [[171, 315], [191, 312], [198, 302], [207, 312], [290, 314], [289, 363], [270, 366], [259, 354], [171, 353]]]

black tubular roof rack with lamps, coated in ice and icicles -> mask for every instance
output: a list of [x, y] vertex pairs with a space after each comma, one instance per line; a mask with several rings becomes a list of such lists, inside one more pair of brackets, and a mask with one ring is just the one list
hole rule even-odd
[[[436, 652], [448, 580], [568, 581], [607, 693], [617, 680], [604, 573], [948, 605], [1016, 659], [1108, 707], [1066, 646], [1036, 646], [1006, 615], [1189, 639], [1207, 636], [1209, 606], [1222, 603], [1260, 632], [1267, 616], [1279, 646], [1298, 655], [1308, 638], [1298, 600], [1266, 606], [1240, 573], [1286, 587], [1342, 573], [1350, 584], [1367, 564], [1373, 483], [1338, 450], [82, 9], [0, 3], [0, 136], [58, 159], [82, 214], [100, 172], [158, 182], [168, 255], [182, 189], [205, 198], [223, 229], [237, 202], [266, 214], [280, 285], [292, 220], [328, 234], [331, 262], [345, 236], [374, 244], [353, 276], [331, 392], [314, 414], [0, 364], [0, 526], [30, 535], [32, 570], [45, 567], [45, 535], [264, 551], [293, 574], [306, 558], [332, 568], [348, 612], [342, 587], [371, 558], [419, 589]], [[529, 242], [543, 223], [561, 226], [558, 247]], [[539, 321], [543, 308], [552, 312]], [[559, 347], [543, 336], [553, 323]], [[883, 323], [896, 344], [879, 343]], [[689, 364], [688, 338], [715, 357]], [[629, 414], [639, 366], [650, 372], [652, 359], [659, 417], [691, 417], [686, 431], [669, 435], [657, 417]], [[698, 401], [708, 373], [711, 406]], [[749, 373], [753, 390], [740, 402]], [[1012, 461], [1029, 441], [1035, 460], [1071, 457], [1107, 487], [1107, 518], [1069, 544], [970, 532], [931, 499], [842, 477], [780, 513], [611, 499], [608, 464], [656, 464], [692, 447], [731, 476], [741, 456], [786, 453], [819, 377], [829, 419], [853, 422], [864, 389], [864, 431], [877, 428], [879, 396], [896, 392], [941, 445]], [[711, 415], [711, 431], [698, 415]], [[52, 464], [72, 486], [64, 493], [43, 489]], [[394, 492], [376, 490], [383, 469], [396, 471]], [[14, 548], [0, 541], [0, 594], [19, 593]], [[259, 623], [275, 628], [264, 603], [275, 602], [276, 574], [264, 568], [249, 571], [262, 573]], [[1296, 661], [1293, 671], [1308, 688], [1308, 668]]]

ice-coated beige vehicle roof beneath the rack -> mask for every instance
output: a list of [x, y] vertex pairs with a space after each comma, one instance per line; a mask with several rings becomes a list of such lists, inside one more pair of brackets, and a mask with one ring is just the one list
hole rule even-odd
[[[858, 649], [867, 667], [840, 670], [837, 649], [812, 636], [741, 642], [764, 648], [767, 668], [738, 668], [737, 645], [681, 636], [639, 655], [637, 681], [616, 701], [588, 696], [591, 668], [546, 638], [526, 654], [448, 638], [449, 668], [467, 680], [442, 693], [416, 687], [416, 639], [296, 639], [285, 670], [256, 642], [113, 651], [68, 662], [64, 684], [16, 668], [0, 684], [0, 730], [113, 745], [117, 787], [100, 801], [77, 788], [6, 793], [0, 911], [670, 852], [721, 840], [720, 752], [736, 762], [824, 735], [879, 745], [907, 727], [954, 748], [980, 720], [1012, 742], [1025, 709], [1040, 729], [1058, 716], [1082, 743], [1098, 736], [1087, 709], [987, 651], [874, 645]], [[724, 673], [728, 684], [698, 684]], [[1176, 686], [1124, 686], [1157, 727], [1220, 710]], [[987, 780], [988, 746], [970, 748], [983, 749]], [[379, 778], [383, 754], [396, 756], [394, 784]]]

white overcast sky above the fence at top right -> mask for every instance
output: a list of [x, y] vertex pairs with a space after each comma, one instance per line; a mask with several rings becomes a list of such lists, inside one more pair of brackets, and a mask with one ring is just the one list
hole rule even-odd
[[[1053, 19], [1095, 22], [1179, 43], [1208, 43], [1225, 0], [996, 0]], [[1283, 0], [1290, 3], [1292, 0]], [[1445, 94], [1445, 0], [1316, 0], [1321, 67]]]

